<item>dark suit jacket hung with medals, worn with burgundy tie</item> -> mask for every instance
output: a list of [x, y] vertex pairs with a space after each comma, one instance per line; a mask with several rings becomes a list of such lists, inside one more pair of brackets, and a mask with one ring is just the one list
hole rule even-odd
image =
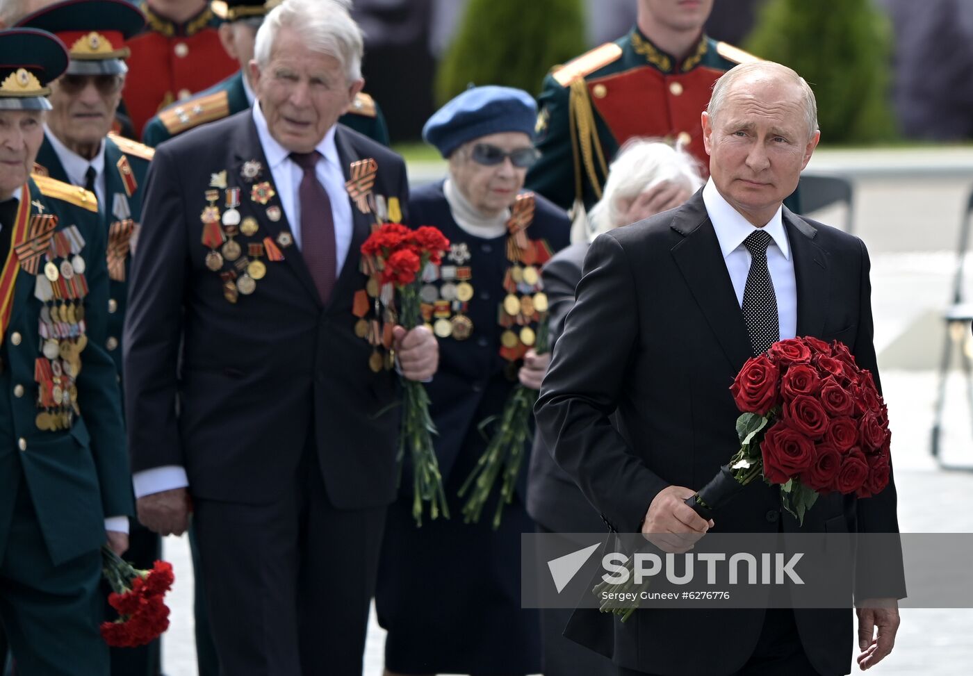
[[[399, 156], [341, 125], [335, 140], [346, 177], [352, 161], [374, 158], [375, 194], [406, 205]], [[211, 176], [226, 170], [227, 185], [242, 188], [240, 216], [259, 223], [254, 236], [237, 236], [244, 256], [248, 243], [299, 227], [286, 214], [270, 220], [278, 196], [251, 199], [253, 184], [241, 174], [248, 160], [262, 166], [253, 184], [272, 182], [249, 110], [173, 139], [152, 163], [126, 317], [133, 470], [182, 465], [193, 495], [259, 504], [290, 489], [309, 445], [336, 507], [387, 504], [396, 482], [396, 375], [370, 371], [371, 348], [354, 335], [351, 312], [366, 282], [359, 248], [374, 216], [352, 203], [351, 246], [327, 305], [296, 245], [281, 249], [283, 261], [267, 262], [252, 295], [227, 302], [201, 244]]]

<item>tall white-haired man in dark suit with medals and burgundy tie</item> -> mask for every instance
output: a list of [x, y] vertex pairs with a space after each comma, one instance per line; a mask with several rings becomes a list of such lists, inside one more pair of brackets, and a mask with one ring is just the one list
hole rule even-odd
[[[361, 55], [341, 4], [285, 0], [257, 34], [254, 108], [150, 169], [126, 318], [138, 512], [181, 533], [192, 504], [234, 676], [361, 671], [399, 414], [352, 309], [361, 244], [408, 197], [402, 159], [336, 124]], [[426, 329], [394, 347], [405, 377], [435, 371]]]

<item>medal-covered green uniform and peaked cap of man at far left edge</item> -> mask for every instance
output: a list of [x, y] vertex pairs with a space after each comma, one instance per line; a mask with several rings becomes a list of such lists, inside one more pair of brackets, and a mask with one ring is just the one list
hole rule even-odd
[[[41, 83], [66, 67], [54, 36], [0, 32], [0, 116], [40, 124]], [[0, 224], [0, 620], [20, 673], [103, 676], [103, 519], [133, 511], [105, 233], [91, 193], [44, 177], [0, 201]]]

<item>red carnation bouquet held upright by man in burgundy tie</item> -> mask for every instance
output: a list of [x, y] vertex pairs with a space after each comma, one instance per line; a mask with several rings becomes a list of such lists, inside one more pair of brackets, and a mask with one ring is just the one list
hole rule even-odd
[[[383, 290], [380, 298], [386, 300], [386, 306], [394, 305], [395, 298], [385, 290], [394, 287], [397, 292], [398, 322], [405, 329], [414, 329], [422, 323], [420, 272], [429, 265], [440, 265], [443, 254], [449, 248], [450, 240], [436, 228], [423, 226], [413, 231], [398, 223], [379, 226], [362, 244], [364, 267], [377, 275]], [[401, 380], [404, 400], [399, 432], [399, 467], [401, 472], [401, 463], [408, 447], [413, 470], [413, 516], [416, 525], [422, 525], [423, 502], [429, 503], [432, 518], [440, 513], [449, 518], [450, 509], [432, 443], [436, 425], [429, 415], [429, 395], [421, 382], [404, 377]]]

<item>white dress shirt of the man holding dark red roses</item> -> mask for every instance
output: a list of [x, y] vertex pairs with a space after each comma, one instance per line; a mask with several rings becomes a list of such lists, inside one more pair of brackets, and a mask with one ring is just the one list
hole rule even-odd
[[[734, 291], [737, 292], [737, 302], [742, 307], [743, 290], [746, 289], [746, 276], [750, 271], [751, 258], [750, 252], [743, 246], [743, 240], [756, 228], [720, 195], [712, 179], [709, 179], [703, 187], [703, 203], [706, 205], [706, 213], [713, 224], [713, 230], [716, 231], [716, 238], [719, 240], [727, 271], [730, 272]], [[773, 238], [767, 246], [767, 268], [774, 282], [780, 339], [794, 338], [797, 335], [797, 281], [794, 277], [794, 259], [791, 256], [790, 243], [787, 241], [787, 231], [784, 230], [781, 207], [777, 207], [774, 217], [763, 230]]]

